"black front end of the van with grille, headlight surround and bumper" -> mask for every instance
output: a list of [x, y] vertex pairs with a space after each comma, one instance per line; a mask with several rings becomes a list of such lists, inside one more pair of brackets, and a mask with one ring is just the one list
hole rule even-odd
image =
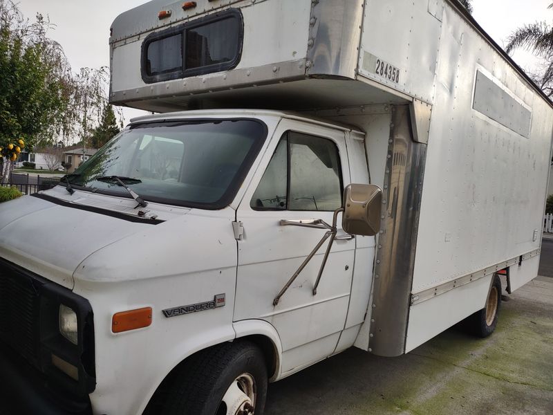
[[[60, 304], [75, 312], [77, 344], [59, 331]], [[0, 258], [0, 414], [89, 414], [94, 389], [88, 300]]]

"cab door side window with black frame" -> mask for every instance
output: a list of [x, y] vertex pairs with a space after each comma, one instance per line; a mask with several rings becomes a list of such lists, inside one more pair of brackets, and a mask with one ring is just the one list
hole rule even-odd
[[338, 148], [328, 138], [288, 131], [250, 201], [254, 210], [333, 211], [341, 206]]

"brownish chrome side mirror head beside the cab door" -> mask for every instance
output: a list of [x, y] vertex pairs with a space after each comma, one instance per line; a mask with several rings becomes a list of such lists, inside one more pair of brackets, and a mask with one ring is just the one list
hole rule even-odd
[[376, 185], [348, 185], [344, 189], [341, 227], [348, 234], [371, 237], [380, 230], [382, 189]]

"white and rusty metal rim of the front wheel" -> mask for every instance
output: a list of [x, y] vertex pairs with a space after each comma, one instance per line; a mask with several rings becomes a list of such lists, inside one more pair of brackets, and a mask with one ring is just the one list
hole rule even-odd
[[255, 380], [250, 374], [241, 374], [225, 392], [217, 414], [250, 415], [255, 407]]

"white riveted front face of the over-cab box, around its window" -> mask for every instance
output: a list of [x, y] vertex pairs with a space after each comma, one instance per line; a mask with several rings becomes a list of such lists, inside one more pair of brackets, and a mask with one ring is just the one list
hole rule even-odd
[[[114, 33], [121, 31], [126, 35], [114, 34], [111, 37], [111, 103], [138, 107], [133, 103], [141, 102], [141, 109], [170, 111], [179, 108], [179, 99], [183, 101], [180, 109], [187, 108], [191, 95], [256, 88], [259, 84], [279, 84], [305, 78], [311, 4], [310, 0], [225, 1], [224, 7], [212, 9], [210, 4], [203, 8], [198, 2], [196, 8], [180, 18], [171, 15], [171, 19], [163, 19], [155, 26], [151, 21], [144, 21], [148, 21], [153, 10], [159, 8], [158, 2], [129, 10], [113, 23]], [[244, 24], [242, 52], [236, 68], [151, 84], [142, 80], [142, 44], [148, 35], [216, 15], [230, 6], [240, 10]], [[154, 15], [157, 19], [157, 12]], [[135, 19], [136, 26], [133, 30], [132, 19]], [[164, 105], [156, 100], [166, 98], [179, 99], [173, 99], [173, 104], [163, 109]]]

